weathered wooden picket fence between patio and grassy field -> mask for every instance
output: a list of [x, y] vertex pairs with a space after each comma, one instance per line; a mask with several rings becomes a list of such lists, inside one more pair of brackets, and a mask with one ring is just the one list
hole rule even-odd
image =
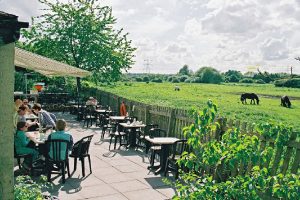
[[[100, 90], [93, 90], [93, 93], [90, 93], [90, 95], [95, 96], [98, 100], [100, 100], [102, 105], [110, 106], [113, 110], [116, 110], [117, 113], [120, 110], [119, 106], [121, 102], [124, 101], [130, 116], [136, 116], [138, 120], [142, 120], [145, 124], [158, 124], [160, 128], [167, 130], [168, 136], [183, 138], [183, 127], [193, 123], [193, 120], [189, 117], [187, 110], [147, 105]], [[290, 141], [286, 145], [276, 147], [273, 139], [264, 138], [256, 133], [253, 124], [227, 120], [225, 118], [219, 118], [218, 122], [221, 125], [220, 128], [214, 131], [211, 135], [208, 135], [205, 138], [206, 141], [209, 141], [212, 138], [220, 140], [222, 133], [224, 133], [228, 128], [239, 127], [241, 133], [243, 134], [255, 134], [259, 136], [261, 141], [261, 152], [265, 148], [272, 149], [273, 155], [271, 156], [270, 160], [265, 162], [263, 165], [263, 167], [271, 169], [271, 175], [278, 173], [285, 174], [287, 171], [295, 174], [299, 173], [300, 142], [296, 141], [297, 133], [292, 135]], [[237, 163], [236, 168], [231, 171], [231, 176], [246, 173], [247, 171], [251, 170], [251, 168], [251, 163], [249, 163], [248, 166], [243, 166]]]

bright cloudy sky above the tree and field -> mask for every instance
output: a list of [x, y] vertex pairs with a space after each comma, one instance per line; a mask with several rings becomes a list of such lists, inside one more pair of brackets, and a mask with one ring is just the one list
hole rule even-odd
[[[67, 0], [64, 0], [67, 2]], [[137, 47], [130, 72], [260, 70], [300, 74], [300, 0], [102, 0]], [[30, 21], [37, 0], [0, 0], [0, 10]]]

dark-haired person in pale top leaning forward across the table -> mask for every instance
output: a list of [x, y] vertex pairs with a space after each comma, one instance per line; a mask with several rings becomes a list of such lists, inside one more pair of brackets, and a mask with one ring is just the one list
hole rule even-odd
[[38, 113], [40, 125], [43, 127], [51, 126], [55, 128], [56, 117], [54, 118], [52, 113], [50, 114], [46, 110], [42, 109], [41, 104], [36, 103], [33, 105], [32, 110], [34, 113]]

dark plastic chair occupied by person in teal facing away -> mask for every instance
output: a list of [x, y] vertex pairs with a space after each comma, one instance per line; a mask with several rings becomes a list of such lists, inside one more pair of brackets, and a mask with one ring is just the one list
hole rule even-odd
[[[68, 158], [68, 145], [67, 140], [51, 139], [46, 141], [47, 156], [46, 156], [46, 171], [47, 179], [50, 182], [52, 171], [60, 171], [62, 175], [62, 183], [65, 183], [65, 169], [67, 167], [68, 176], [70, 177], [70, 167]], [[57, 168], [54, 167], [57, 166]]]

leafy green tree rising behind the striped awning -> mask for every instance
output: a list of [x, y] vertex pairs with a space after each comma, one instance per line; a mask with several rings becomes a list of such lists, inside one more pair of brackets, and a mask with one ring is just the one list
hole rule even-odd
[[101, 7], [98, 0], [39, 1], [49, 12], [23, 31], [23, 48], [92, 71], [94, 81], [116, 81], [134, 63], [135, 48], [128, 33], [113, 28], [111, 7]]

